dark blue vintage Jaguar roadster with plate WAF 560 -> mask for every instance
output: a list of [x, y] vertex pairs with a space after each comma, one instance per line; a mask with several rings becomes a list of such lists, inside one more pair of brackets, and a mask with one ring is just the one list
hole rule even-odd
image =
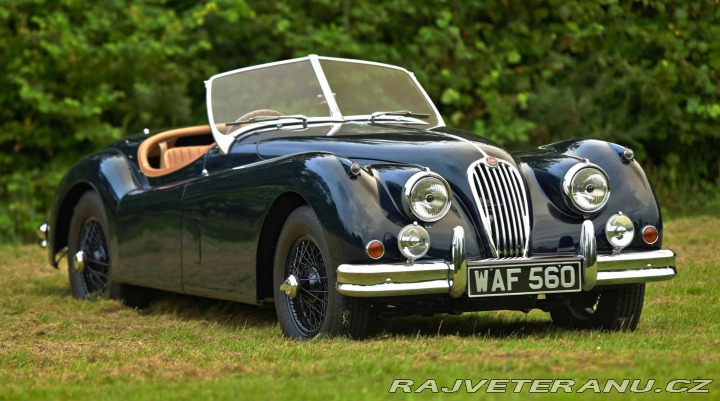
[[218, 74], [208, 125], [131, 136], [57, 191], [41, 242], [77, 298], [145, 288], [274, 303], [284, 335], [372, 318], [539, 308], [634, 330], [675, 276], [626, 147], [509, 153], [447, 128], [413, 74], [308, 57]]

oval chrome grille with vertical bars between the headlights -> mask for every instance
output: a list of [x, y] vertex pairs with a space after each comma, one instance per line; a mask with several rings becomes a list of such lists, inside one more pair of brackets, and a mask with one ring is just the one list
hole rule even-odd
[[520, 172], [504, 160], [493, 167], [485, 160], [470, 166], [468, 175], [494, 256], [527, 256], [530, 218]]

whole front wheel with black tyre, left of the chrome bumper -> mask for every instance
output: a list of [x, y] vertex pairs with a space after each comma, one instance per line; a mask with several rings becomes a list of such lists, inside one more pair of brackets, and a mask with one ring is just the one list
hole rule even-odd
[[336, 282], [322, 226], [315, 212], [302, 206], [285, 221], [275, 250], [273, 291], [283, 335], [298, 340], [364, 337], [369, 305], [338, 293]]

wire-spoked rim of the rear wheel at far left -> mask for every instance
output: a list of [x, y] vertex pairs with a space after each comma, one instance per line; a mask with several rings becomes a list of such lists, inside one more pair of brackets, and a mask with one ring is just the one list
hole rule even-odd
[[80, 231], [79, 252], [84, 256], [80, 273], [86, 297], [107, 297], [110, 288], [108, 246], [103, 227], [97, 219], [88, 219]]

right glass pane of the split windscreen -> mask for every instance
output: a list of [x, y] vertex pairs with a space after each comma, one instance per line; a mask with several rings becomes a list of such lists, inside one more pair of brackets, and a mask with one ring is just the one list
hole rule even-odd
[[435, 112], [407, 72], [348, 61], [321, 59], [320, 65], [343, 116], [407, 110], [430, 114], [425, 121], [431, 127], [438, 124]]

